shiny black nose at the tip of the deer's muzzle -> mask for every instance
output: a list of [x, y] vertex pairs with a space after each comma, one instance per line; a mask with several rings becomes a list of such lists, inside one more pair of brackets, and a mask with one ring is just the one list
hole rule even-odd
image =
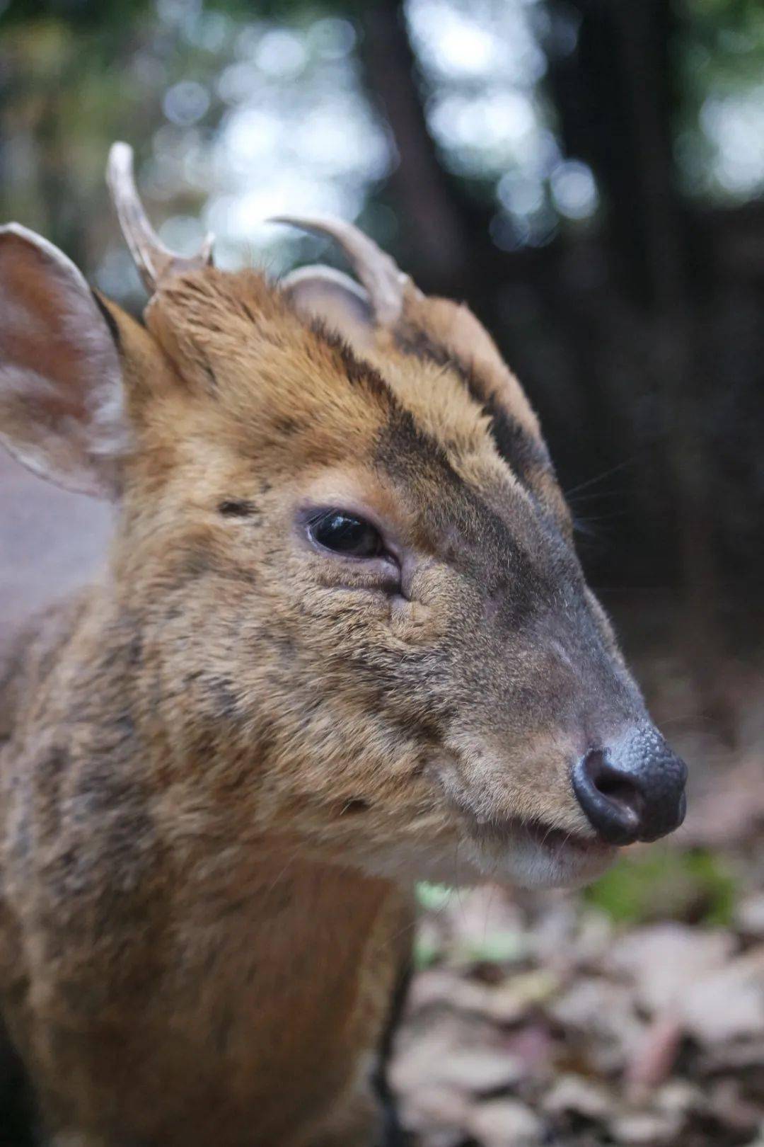
[[685, 818], [687, 766], [654, 728], [593, 749], [573, 770], [573, 788], [608, 844], [656, 841]]

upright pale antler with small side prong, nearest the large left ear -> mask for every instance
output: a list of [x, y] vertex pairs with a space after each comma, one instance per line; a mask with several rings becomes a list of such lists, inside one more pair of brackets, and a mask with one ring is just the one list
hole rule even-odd
[[212, 263], [212, 235], [207, 235], [197, 255], [187, 258], [164, 245], [152, 228], [141, 203], [133, 175], [133, 149], [127, 143], [113, 143], [109, 153], [107, 182], [123, 234], [149, 294], [170, 275], [181, 274]]

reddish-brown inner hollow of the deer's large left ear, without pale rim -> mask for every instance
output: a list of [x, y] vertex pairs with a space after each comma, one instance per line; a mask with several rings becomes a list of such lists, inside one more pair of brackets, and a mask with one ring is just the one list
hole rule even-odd
[[[53, 383], [45, 389], [50, 421], [64, 416], [81, 420], [86, 416], [82, 358], [87, 340], [84, 325], [77, 322], [81, 304], [72, 306], [71, 284], [65, 282], [63, 268], [30, 243], [8, 239], [0, 243], [0, 283], [5, 295], [0, 360]], [[39, 389], [36, 398], [40, 401]]]

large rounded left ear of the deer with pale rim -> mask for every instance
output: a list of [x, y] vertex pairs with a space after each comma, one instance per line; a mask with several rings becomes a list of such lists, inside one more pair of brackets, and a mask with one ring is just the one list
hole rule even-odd
[[126, 428], [119, 357], [74, 264], [17, 224], [0, 227], [0, 442], [81, 493], [117, 490]]

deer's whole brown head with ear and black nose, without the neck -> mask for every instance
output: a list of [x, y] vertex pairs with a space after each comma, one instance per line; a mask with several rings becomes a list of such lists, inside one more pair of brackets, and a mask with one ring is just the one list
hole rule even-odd
[[271, 287], [133, 235], [143, 329], [7, 231], [2, 432], [118, 493], [134, 716], [179, 809], [372, 872], [588, 879], [680, 822], [685, 767], [493, 342], [339, 237], [363, 291], [321, 270]]

